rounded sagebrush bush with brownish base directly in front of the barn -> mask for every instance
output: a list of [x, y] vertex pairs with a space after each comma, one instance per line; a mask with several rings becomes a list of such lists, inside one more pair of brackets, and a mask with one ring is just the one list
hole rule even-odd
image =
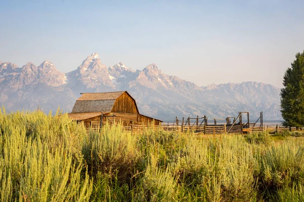
[[110, 176], [118, 173], [120, 180], [128, 180], [132, 176], [141, 158], [136, 136], [122, 133], [120, 126], [112, 129], [104, 126], [100, 133], [90, 131], [84, 140], [82, 153], [92, 176], [102, 170]]

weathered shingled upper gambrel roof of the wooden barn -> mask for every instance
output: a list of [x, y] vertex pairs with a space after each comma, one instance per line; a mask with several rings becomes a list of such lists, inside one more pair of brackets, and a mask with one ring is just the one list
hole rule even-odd
[[135, 102], [136, 110], [138, 108], [135, 99], [127, 91], [118, 92], [97, 92], [97, 93], [81, 93], [82, 96], [78, 98], [72, 109], [72, 113], [83, 112], [111, 112], [116, 99], [126, 92]]

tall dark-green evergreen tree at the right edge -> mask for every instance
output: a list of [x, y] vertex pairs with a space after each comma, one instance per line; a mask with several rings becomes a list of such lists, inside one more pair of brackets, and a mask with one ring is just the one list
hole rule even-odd
[[304, 51], [297, 53], [287, 68], [281, 89], [281, 113], [284, 126], [304, 126]]

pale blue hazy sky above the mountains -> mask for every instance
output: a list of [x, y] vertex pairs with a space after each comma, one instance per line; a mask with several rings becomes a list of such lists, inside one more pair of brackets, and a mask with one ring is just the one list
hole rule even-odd
[[132, 69], [157, 64], [199, 86], [282, 87], [304, 50], [304, 1], [0, 0], [0, 61], [49, 60], [61, 72], [97, 52]]

